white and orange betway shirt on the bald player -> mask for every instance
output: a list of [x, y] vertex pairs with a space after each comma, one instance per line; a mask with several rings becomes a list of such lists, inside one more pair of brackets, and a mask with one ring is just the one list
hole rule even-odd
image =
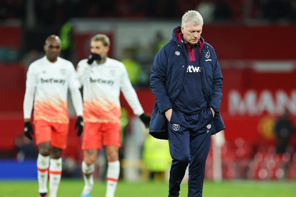
[[[68, 123], [68, 88], [79, 86], [70, 61], [58, 57], [52, 63], [44, 56], [33, 62], [27, 72], [26, 88], [35, 88], [34, 120]], [[24, 118], [31, 117], [31, 110], [24, 102]]]

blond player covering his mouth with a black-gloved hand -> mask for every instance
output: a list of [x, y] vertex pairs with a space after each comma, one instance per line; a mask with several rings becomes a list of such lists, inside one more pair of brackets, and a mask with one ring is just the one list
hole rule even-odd
[[106, 35], [92, 37], [88, 59], [77, 66], [80, 84], [83, 85], [84, 134], [82, 149], [84, 160], [84, 188], [82, 197], [89, 197], [93, 187], [94, 162], [97, 150], [106, 147], [108, 170], [106, 197], [113, 197], [119, 177], [118, 150], [121, 146], [119, 102], [120, 91], [146, 126], [150, 117], [144, 114], [137, 94], [130, 83], [124, 64], [108, 58], [110, 41]]

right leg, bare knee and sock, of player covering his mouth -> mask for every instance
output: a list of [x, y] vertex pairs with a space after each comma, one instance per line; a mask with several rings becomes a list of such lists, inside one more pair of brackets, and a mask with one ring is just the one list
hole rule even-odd
[[120, 172], [118, 151], [117, 146], [106, 146], [108, 160], [106, 197], [113, 197], [116, 190]]

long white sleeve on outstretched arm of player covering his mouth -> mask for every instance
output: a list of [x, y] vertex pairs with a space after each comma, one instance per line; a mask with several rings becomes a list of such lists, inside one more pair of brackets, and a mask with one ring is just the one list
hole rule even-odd
[[130, 83], [130, 78], [128, 76], [128, 73], [124, 65], [123, 65], [123, 74], [121, 78], [121, 91], [123, 93], [123, 96], [125, 97], [125, 100], [133, 109], [133, 112], [135, 115], [140, 116], [142, 113], [144, 113], [144, 110], [138, 99], [137, 93], [133, 88], [132, 84]]

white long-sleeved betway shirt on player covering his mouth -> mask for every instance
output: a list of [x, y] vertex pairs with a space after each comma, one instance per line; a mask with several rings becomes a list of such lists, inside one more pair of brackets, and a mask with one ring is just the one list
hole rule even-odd
[[84, 122], [120, 123], [120, 91], [133, 109], [141, 115], [144, 110], [123, 63], [107, 58], [104, 64], [87, 59], [81, 60], [76, 68], [80, 85], [83, 86]]

